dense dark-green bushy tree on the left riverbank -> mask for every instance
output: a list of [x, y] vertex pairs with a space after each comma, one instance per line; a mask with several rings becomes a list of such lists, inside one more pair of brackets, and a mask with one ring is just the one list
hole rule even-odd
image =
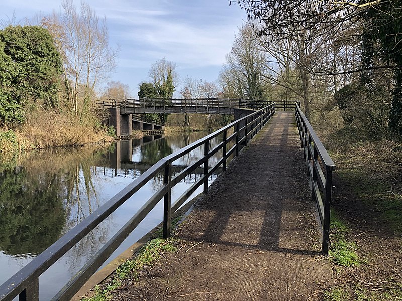
[[39, 26], [0, 30], [0, 123], [22, 122], [33, 101], [58, 105], [60, 54], [49, 32]]

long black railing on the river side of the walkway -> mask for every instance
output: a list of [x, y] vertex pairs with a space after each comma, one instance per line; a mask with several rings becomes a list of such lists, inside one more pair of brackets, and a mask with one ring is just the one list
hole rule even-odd
[[[250, 115], [247, 115], [231, 124], [209, 134], [208, 136], [191, 143], [175, 153], [166, 156], [117, 193], [95, 212], [90, 214], [63, 237], [53, 243], [44, 252], [34, 258], [25, 267], [18, 271], [9, 280], [0, 286], [0, 300], [11, 301], [16, 296], [19, 300], [39, 300], [39, 276], [61, 258], [68, 250], [76, 245], [96, 225], [104, 221], [120, 205], [133, 196], [141, 187], [161, 172], [164, 175], [164, 185], [135, 213], [135, 215], [82, 267], [82, 269], [57, 293], [53, 300], [69, 300], [93, 275], [96, 270], [111, 256], [124, 239], [137, 227], [147, 214], [163, 199], [163, 236], [170, 235], [171, 214], [203, 185], [204, 193], [208, 191], [208, 178], [222, 166], [226, 170], [226, 163], [230, 155], [237, 156], [242, 146], [251, 139], [275, 114], [275, 104], [266, 106]], [[232, 133], [233, 131], [233, 133]], [[223, 141], [210, 149], [211, 140], [223, 136]], [[233, 142], [232, 142], [233, 141]], [[231, 142], [229, 145], [228, 143]], [[233, 146], [231, 146], [233, 144]], [[229, 149], [228, 149], [229, 146]], [[187, 155], [197, 147], [204, 147], [204, 157], [184, 168], [172, 177], [172, 163]], [[212, 167], [209, 159], [222, 150], [222, 158]], [[188, 188], [175, 202], [171, 204], [171, 190], [195, 169], [202, 167], [204, 175]]]

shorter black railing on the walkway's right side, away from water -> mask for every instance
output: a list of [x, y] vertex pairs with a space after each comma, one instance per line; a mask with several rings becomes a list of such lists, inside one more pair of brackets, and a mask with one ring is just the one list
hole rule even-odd
[[[304, 159], [307, 163], [307, 174], [312, 183], [312, 198], [317, 204], [318, 214], [323, 231], [322, 253], [328, 255], [330, 237], [330, 216], [332, 196], [332, 172], [335, 164], [327, 150], [313, 130], [310, 122], [296, 103], [297, 128], [304, 148]], [[321, 195], [321, 192], [324, 196]]]

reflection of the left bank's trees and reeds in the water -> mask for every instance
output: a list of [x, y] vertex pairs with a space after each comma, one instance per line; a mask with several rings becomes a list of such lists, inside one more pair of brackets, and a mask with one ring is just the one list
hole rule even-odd
[[2, 154], [0, 250], [37, 255], [96, 209], [91, 166], [103, 160], [103, 152], [102, 147], [82, 147], [8, 154], [11, 158]]

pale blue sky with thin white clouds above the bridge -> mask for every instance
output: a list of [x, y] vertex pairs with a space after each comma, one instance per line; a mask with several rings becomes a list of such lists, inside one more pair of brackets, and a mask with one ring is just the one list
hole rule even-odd
[[[215, 81], [238, 28], [247, 19], [236, 4], [229, 6], [229, 0], [85, 2], [99, 17], [106, 17], [109, 44], [120, 47], [110, 80], [129, 85], [132, 97], [138, 97], [139, 85], [148, 81], [149, 68], [163, 57], [177, 64], [180, 79], [190, 76]], [[79, 8], [80, 0], [73, 3]], [[61, 11], [61, 0], [2, 1], [0, 21], [24, 24], [26, 18], [53, 11]], [[179, 90], [180, 86], [176, 88]]]

